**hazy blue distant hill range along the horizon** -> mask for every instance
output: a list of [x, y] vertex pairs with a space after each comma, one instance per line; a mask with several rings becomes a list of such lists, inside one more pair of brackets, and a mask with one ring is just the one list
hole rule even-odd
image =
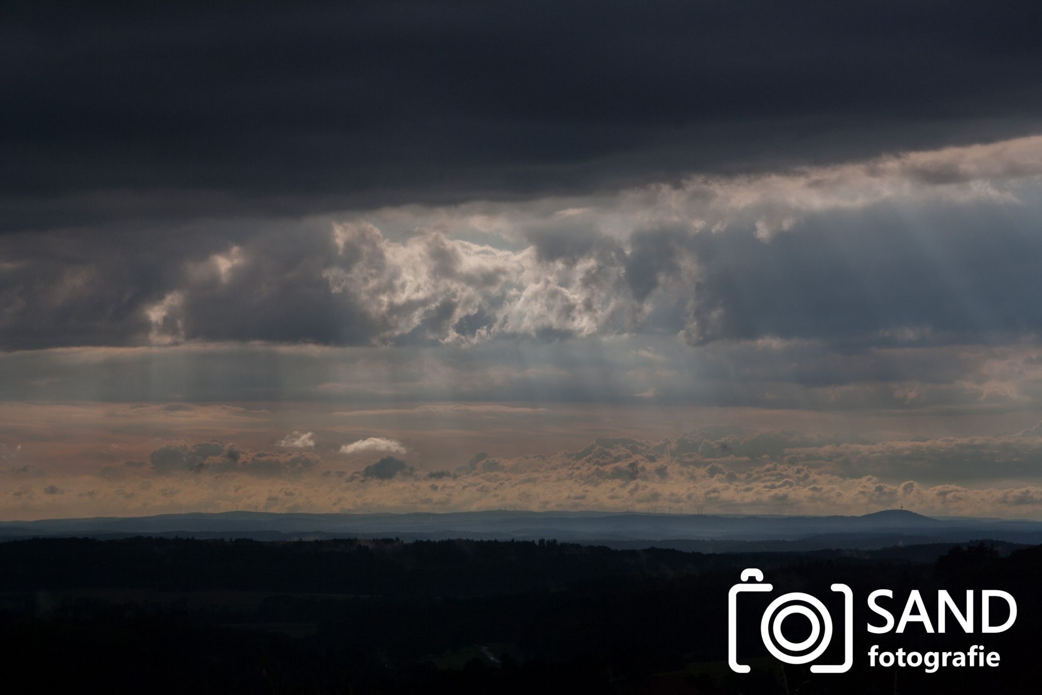
[[612, 514], [604, 512], [455, 512], [448, 514], [163, 514], [0, 522], [0, 540], [33, 537], [166, 536], [294, 540], [400, 538], [538, 540], [615, 548], [744, 550], [875, 549], [994, 540], [1042, 543], [1042, 522], [935, 519], [907, 510], [847, 516]]

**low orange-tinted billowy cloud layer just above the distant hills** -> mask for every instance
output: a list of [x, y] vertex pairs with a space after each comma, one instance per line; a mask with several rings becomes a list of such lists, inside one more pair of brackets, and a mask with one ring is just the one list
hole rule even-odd
[[167, 444], [146, 462], [93, 475], [55, 477], [4, 463], [0, 474], [10, 493], [0, 499], [0, 514], [7, 518], [92, 515], [117, 499], [126, 513], [699, 505], [728, 514], [863, 514], [903, 505], [933, 515], [1038, 517], [1042, 511], [1042, 487], [1025, 481], [1042, 465], [1042, 424], [914, 441], [718, 426], [661, 441], [602, 437], [549, 455], [482, 451], [448, 469], [388, 455], [352, 470], [332, 452], [273, 454], [214, 440]]

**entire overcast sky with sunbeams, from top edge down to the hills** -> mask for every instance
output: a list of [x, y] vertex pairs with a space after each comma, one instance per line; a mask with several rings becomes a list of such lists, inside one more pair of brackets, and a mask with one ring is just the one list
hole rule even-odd
[[0, 9], [0, 518], [1042, 518], [1037, 3]]

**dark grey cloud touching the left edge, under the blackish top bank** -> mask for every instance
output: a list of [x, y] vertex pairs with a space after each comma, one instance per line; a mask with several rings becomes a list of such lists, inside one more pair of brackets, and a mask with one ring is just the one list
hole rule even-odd
[[0, 234], [2, 347], [140, 343], [146, 307], [185, 281], [187, 264], [273, 229], [284, 226], [248, 218]]

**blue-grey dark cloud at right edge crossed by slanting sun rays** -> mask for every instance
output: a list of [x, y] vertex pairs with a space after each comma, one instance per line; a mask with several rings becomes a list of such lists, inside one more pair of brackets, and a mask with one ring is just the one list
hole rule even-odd
[[894, 345], [1037, 333], [1038, 215], [992, 204], [875, 207], [815, 216], [769, 243], [690, 237], [701, 272], [685, 336]]

